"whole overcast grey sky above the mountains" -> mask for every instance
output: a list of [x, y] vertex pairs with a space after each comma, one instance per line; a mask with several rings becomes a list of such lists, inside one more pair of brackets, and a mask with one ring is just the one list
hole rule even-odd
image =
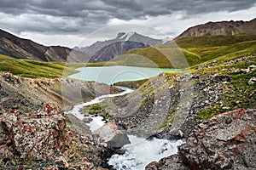
[[176, 37], [208, 21], [255, 17], [255, 0], [0, 0], [0, 29], [70, 48], [116, 37], [119, 31]]

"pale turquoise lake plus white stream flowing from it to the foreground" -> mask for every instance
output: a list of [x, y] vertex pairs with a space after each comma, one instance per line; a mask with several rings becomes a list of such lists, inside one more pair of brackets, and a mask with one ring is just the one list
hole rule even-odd
[[[129, 66], [109, 66], [109, 67], [84, 67], [78, 69], [79, 73], [72, 75], [72, 78], [77, 78], [87, 81], [105, 82], [112, 84], [121, 81], [135, 81], [144, 78], [154, 77], [163, 71], [157, 68], [142, 68]], [[74, 105], [73, 110], [66, 113], [72, 113], [79, 119], [84, 119], [82, 109], [87, 105], [93, 105], [102, 102], [104, 99], [111, 97], [130, 94], [133, 90], [123, 88], [125, 91], [119, 94], [107, 94], [96, 97], [86, 103]], [[89, 115], [88, 115], [89, 116]], [[87, 123], [90, 130], [93, 132], [104, 125], [102, 116], [90, 116], [92, 121]], [[152, 161], [160, 161], [162, 157], [170, 156], [177, 153], [177, 146], [183, 144], [183, 140], [170, 141], [167, 139], [143, 139], [135, 135], [128, 135], [131, 144], [125, 144], [121, 148], [124, 151], [123, 155], [113, 155], [109, 158], [108, 164], [112, 165], [117, 170], [141, 170]]]

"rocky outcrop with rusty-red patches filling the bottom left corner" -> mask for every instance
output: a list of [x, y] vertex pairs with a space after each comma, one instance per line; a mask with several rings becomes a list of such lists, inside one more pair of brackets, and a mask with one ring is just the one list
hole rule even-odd
[[0, 108], [1, 169], [103, 169], [104, 148], [75, 131], [54, 105], [22, 114]]

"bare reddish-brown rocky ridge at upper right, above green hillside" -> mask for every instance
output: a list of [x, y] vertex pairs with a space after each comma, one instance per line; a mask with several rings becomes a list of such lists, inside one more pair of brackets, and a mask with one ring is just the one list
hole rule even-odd
[[201, 36], [218, 36], [218, 35], [241, 35], [243, 33], [256, 34], [256, 18], [250, 21], [221, 21], [207, 22], [198, 26], [192, 26], [174, 40], [183, 37], [201, 37]]

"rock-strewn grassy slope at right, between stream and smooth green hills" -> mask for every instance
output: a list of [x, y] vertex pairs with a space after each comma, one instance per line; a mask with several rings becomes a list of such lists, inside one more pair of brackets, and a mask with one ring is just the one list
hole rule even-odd
[[[144, 110], [146, 105], [155, 101], [158, 103], [162, 98], [172, 99], [169, 104], [169, 113], [159, 126], [161, 128], [172, 125], [178, 115], [185, 115], [187, 108], [185, 104], [188, 101], [191, 102], [191, 107], [188, 109], [191, 114], [195, 114], [195, 119], [207, 119], [219, 113], [239, 108], [255, 108], [256, 83], [248, 83], [253, 77], [256, 77], [255, 59], [256, 56], [246, 56], [226, 59], [221, 62], [216, 61], [214, 62], [216, 65], [207, 64], [194, 69], [166, 72], [166, 81], [163, 81], [160, 76], [152, 77], [138, 88], [139, 97], [143, 97], [143, 99], [137, 105], [140, 109], [136, 109], [137, 111]], [[183, 77], [186, 74], [193, 75], [190, 80], [188, 79], [189, 82], [184, 79], [183, 82], [177, 81], [178, 77]], [[214, 77], [219, 78], [214, 80]], [[229, 77], [230, 80], [225, 80], [225, 77]], [[155, 85], [153, 82], [160, 82], [160, 85]], [[189, 86], [193, 87], [193, 93], [183, 99], [180, 98], [180, 95], [188, 90]], [[131, 96], [131, 101], [139, 99], [138, 96], [134, 96]], [[215, 97], [216, 99], [214, 99]], [[167, 102], [167, 100], [164, 101]], [[157, 103], [154, 103], [154, 107], [157, 107]], [[165, 111], [160, 107], [157, 113], [163, 114]]]

